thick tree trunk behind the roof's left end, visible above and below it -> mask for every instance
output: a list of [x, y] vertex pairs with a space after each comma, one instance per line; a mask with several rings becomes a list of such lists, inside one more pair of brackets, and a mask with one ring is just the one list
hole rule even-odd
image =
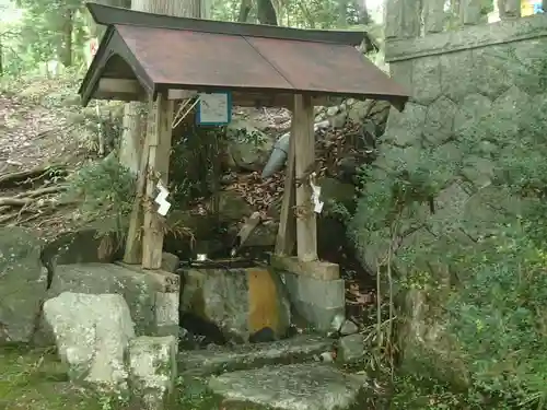
[[[200, 17], [203, 0], [132, 0], [131, 9], [181, 17]], [[124, 132], [119, 147], [119, 162], [133, 174], [139, 172], [144, 137], [147, 104], [128, 103], [124, 110]]]

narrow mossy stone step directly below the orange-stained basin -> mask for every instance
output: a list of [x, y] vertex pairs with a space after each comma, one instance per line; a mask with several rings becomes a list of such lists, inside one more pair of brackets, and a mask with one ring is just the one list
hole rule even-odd
[[317, 355], [330, 351], [333, 343], [333, 339], [325, 337], [300, 335], [270, 343], [187, 350], [178, 353], [178, 373], [207, 376], [271, 364], [307, 363], [315, 361]]

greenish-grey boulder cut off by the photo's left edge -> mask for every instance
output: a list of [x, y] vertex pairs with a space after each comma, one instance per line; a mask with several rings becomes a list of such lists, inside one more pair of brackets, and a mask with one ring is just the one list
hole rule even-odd
[[46, 297], [42, 245], [22, 227], [0, 229], [0, 343], [33, 338]]

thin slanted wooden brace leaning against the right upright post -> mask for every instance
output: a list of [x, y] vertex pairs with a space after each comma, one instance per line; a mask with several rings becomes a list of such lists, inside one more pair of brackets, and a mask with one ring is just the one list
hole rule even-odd
[[284, 175], [283, 202], [279, 216], [279, 229], [276, 238], [276, 255], [291, 256], [296, 242], [296, 218], [294, 207], [296, 204], [295, 177], [294, 177], [294, 150], [296, 136], [294, 116], [291, 122], [291, 136], [289, 137], [289, 153], [287, 155], [287, 174]]

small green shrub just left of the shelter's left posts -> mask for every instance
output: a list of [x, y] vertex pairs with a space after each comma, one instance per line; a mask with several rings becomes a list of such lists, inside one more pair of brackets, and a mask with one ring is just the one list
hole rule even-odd
[[[81, 201], [82, 223], [101, 233], [125, 233], [135, 198], [135, 177], [115, 155], [91, 163], [69, 179], [67, 199]], [[98, 224], [97, 224], [98, 222]]]

